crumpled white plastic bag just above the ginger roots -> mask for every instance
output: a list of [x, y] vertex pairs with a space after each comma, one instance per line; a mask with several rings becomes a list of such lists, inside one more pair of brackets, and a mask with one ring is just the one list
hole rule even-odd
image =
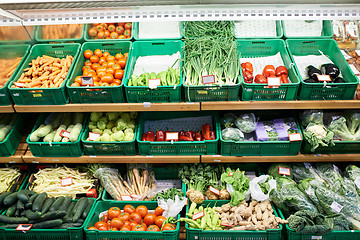
[[[276, 181], [275, 179], [272, 179], [271, 176], [261, 175], [260, 177], [256, 177], [250, 181], [251, 198], [258, 202], [269, 200], [270, 192], [272, 189], [275, 188]], [[266, 193], [264, 193], [264, 190], [266, 191]]]

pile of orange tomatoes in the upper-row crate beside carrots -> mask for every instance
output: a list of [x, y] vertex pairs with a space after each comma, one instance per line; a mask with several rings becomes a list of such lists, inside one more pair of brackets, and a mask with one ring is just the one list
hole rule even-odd
[[[82, 75], [77, 76], [70, 87], [120, 86], [128, 53], [117, 53], [113, 56], [100, 49], [94, 52], [88, 49], [84, 52], [84, 57], [87, 60], [84, 62]], [[91, 81], [83, 81], [83, 76], [91, 77]]]

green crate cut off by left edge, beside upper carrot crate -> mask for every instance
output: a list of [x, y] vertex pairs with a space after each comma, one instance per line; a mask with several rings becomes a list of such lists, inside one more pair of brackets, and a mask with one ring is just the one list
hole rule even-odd
[[19, 65], [16, 67], [15, 71], [11, 75], [10, 79], [5, 83], [5, 85], [0, 88], [0, 105], [6, 106], [11, 105], [12, 99], [9, 94], [9, 83], [13, 80], [14, 76], [19, 71], [19, 68], [23, 65], [27, 54], [29, 53], [30, 45], [29, 44], [18, 44], [18, 45], [0, 45], [0, 51], [2, 52], [2, 59], [6, 58], [16, 58], [23, 57]]

